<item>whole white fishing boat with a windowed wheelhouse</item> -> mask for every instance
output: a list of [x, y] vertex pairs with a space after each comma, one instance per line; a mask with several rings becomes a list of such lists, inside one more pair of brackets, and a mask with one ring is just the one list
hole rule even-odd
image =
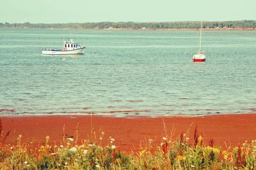
[[63, 46], [60, 49], [49, 48], [42, 50], [42, 54], [47, 55], [70, 55], [70, 54], [83, 54], [85, 50], [84, 45], [74, 43], [72, 39], [70, 41], [64, 41]]

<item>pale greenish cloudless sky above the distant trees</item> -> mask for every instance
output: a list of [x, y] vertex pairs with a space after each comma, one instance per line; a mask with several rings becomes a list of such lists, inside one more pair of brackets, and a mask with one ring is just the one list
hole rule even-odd
[[0, 22], [172, 22], [256, 20], [256, 0], [8, 0]]

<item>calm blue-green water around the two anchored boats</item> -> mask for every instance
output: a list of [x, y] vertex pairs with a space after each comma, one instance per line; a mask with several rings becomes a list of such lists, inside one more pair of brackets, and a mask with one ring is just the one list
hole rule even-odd
[[[84, 55], [42, 55], [65, 39]], [[256, 31], [0, 29], [0, 115], [256, 111]]]

